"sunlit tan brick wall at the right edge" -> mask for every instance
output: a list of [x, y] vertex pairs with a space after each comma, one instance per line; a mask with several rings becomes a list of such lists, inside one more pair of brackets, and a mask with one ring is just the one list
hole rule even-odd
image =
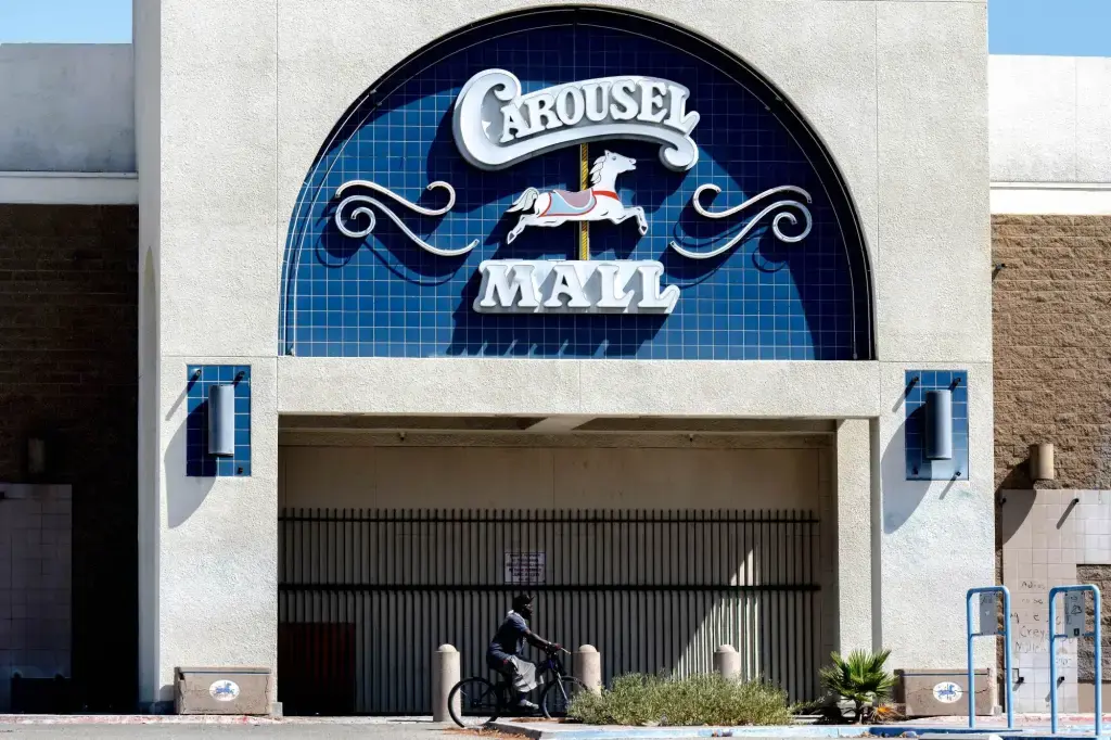
[[1052, 442], [1039, 487], [1111, 488], [1111, 217], [995, 216], [992, 250], [995, 484]]

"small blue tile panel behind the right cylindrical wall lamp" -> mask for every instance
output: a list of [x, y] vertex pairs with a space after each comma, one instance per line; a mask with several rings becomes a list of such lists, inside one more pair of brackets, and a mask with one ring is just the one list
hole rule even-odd
[[[907, 422], [903, 426], [907, 480], [968, 480], [969, 373], [963, 370], [908, 370], [905, 381], [909, 389]], [[953, 391], [953, 459], [927, 460], [925, 392], [945, 389]]]

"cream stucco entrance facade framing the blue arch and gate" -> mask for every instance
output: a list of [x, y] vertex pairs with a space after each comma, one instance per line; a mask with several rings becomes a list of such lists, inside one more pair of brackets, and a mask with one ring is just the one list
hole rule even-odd
[[[287, 223], [332, 124], [424, 43], [534, 4], [163, 1], [160, 130], [144, 143], [161, 180], [141, 209], [158, 230], [163, 508], [144, 697], [164, 698], [174, 664], [274, 662], [279, 412], [872, 419], [873, 642], [893, 667], [963, 666], [963, 591], [994, 578], [982, 0], [604, 3], [735, 50], [817, 129], [867, 234], [877, 361], [276, 360]], [[253, 368], [249, 479], [183, 476], [186, 366], [218, 358]], [[970, 372], [968, 482], [904, 480], [903, 372], [933, 367]], [[188, 516], [171, 516], [182, 501]]]

